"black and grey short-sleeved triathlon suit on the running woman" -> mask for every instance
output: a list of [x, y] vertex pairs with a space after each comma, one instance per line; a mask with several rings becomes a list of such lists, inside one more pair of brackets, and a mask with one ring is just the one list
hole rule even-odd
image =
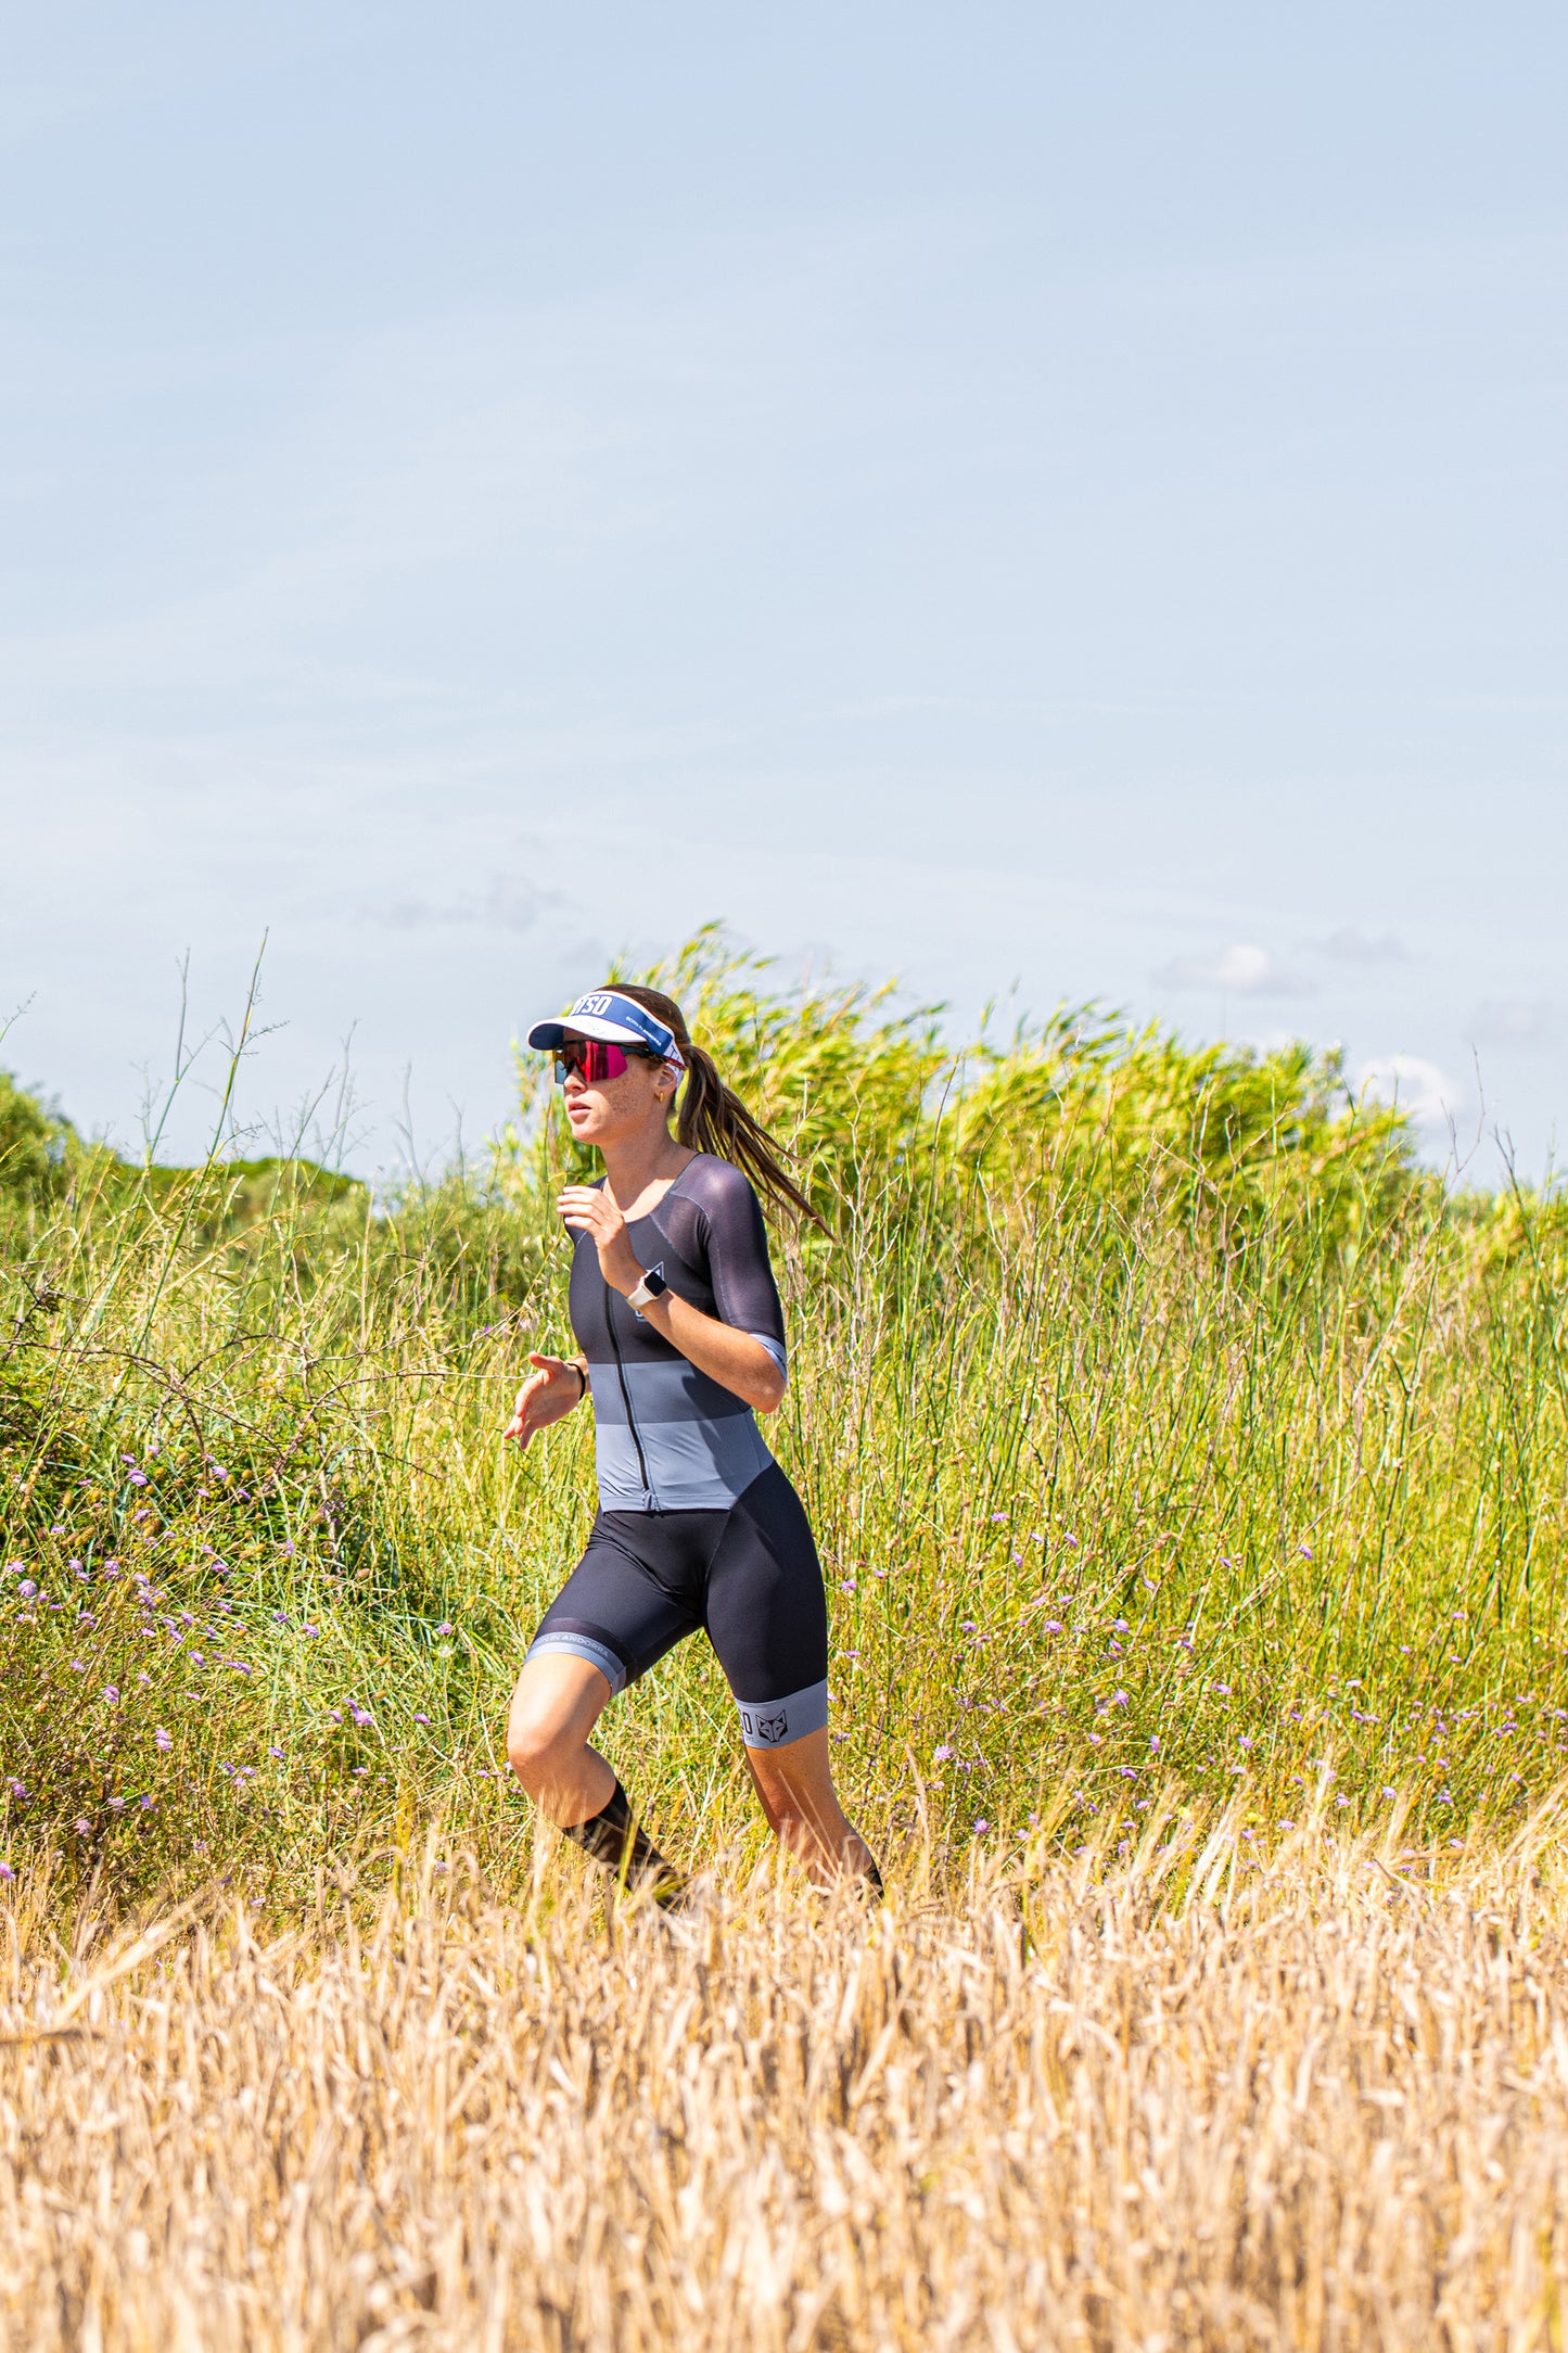
[[[703, 1315], [759, 1339], [780, 1372], [783, 1308], [762, 1209], [729, 1160], [698, 1153], [628, 1221], [637, 1261]], [[757, 1419], [611, 1289], [576, 1235], [571, 1329], [588, 1358], [599, 1513], [529, 1659], [569, 1652], [611, 1692], [708, 1631], [748, 1748], [827, 1722], [827, 1600], [811, 1525]]]

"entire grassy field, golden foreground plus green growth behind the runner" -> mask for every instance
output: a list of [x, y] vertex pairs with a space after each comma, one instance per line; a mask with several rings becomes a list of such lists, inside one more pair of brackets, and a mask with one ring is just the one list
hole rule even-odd
[[1559, 2344], [1556, 1195], [1443, 1186], [1305, 1052], [952, 1054], [712, 934], [663, 981], [835, 1228], [778, 1235], [769, 1438], [889, 1913], [736, 1894], [696, 1642], [604, 1737], [724, 1857], [689, 1934], [510, 1784], [592, 1511], [585, 1414], [496, 1435], [567, 1337], [531, 1078], [395, 1202], [0, 1089], [5, 2294], [61, 2344]]

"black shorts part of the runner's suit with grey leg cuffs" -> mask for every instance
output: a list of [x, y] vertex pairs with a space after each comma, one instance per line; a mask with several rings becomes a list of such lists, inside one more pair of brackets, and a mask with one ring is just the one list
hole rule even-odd
[[708, 1631], [748, 1748], [827, 1722], [827, 1595], [811, 1522], [778, 1464], [729, 1511], [602, 1511], [529, 1659], [588, 1659], [611, 1692]]

